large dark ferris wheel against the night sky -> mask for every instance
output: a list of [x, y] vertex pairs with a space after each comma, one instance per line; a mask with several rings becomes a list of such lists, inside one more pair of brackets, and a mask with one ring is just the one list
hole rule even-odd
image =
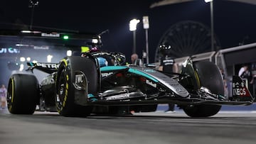
[[[159, 44], [171, 45], [171, 57], [186, 57], [211, 50], [210, 28], [196, 21], [181, 21], [171, 26], [162, 35]], [[213, 38], [215, 50], [220, 49], [216, 35]], [[155, 62], [160, 60], [159, 48], [156, 48]]]

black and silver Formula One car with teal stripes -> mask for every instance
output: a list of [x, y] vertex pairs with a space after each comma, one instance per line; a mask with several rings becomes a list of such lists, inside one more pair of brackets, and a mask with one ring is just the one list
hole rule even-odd
[[[254, 97], [240, 77], [233, 77], [233, 96], [224, 96], [223, 79], [212, 62], [183, 62], [180, 73], [162, 73], [152, 65], [124, 65], [120, 52], [93, 52], [65, 57], [60, 63], [29, 62], [30, 73], [12, 74], [10, 113], [58, 111], [62, 116], [156, 111], [157, 104], [176, 104], [191, 117], [213, 116], [223, 104], [250, 105]], [[33, 74], [48, 76], [41, 84]]]

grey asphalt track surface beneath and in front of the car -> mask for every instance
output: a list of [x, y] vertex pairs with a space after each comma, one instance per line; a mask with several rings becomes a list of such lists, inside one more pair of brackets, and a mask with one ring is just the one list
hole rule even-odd
[[183, 111], [71, 118], [50, 112], [13, 115], [2, 110], [0, 143], [255, 144], [256, 112], [220, 111], [210, 118], [190, 118]]

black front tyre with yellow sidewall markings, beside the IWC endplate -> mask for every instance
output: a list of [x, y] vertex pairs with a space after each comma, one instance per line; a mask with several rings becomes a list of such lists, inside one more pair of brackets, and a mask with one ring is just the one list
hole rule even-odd
[[[75, 88], [77, 74], [85, 76], [80, 81], [85, 82], [87, 89]], [[99, 77], [93, 59], [87, 57], [66, 57], [60, 62], [55, 84], [55, 100], [58, 113], [62, 116], [85, 117], [92, 112], [92, 106], [87, 105], [87, 93], [97, 94]], [[82, 96], [82, 99], [78, 99]], [[82, 104], [78, 104], [80, 101]]]

